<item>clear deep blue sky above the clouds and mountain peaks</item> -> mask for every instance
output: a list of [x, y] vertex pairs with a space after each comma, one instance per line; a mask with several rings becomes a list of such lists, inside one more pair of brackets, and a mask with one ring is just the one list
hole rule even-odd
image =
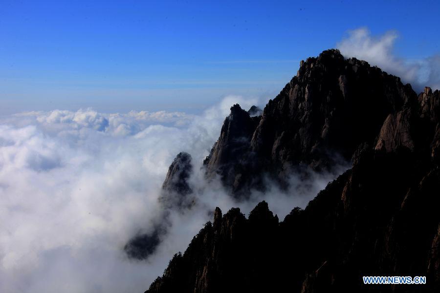
[[0, 114], [267, 100], [300, 60], [363, 26], [396, 30], [403, 58], [440, 52], [439, 1], [360, 2], [0, 0]]

